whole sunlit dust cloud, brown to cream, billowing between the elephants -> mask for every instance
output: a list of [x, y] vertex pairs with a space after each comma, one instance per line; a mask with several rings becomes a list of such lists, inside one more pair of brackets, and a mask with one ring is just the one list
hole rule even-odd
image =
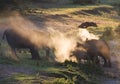
[[55, 60], [58, 62], [76, 60], [70, 57], [70, 52], [75, 49], [78, 38], [83, 42], [86, 39], [99, 39], [97, 36], [90, 34], [86, 29], [78, 29], [76, 36], [67, 36], [59, 30], [54, 30], [52, 27], [42, 30], [19, 13], [11, 15], [8, 19], [8, 24], [13, 31], [38, 48], [49, 47], [54, 49]]

